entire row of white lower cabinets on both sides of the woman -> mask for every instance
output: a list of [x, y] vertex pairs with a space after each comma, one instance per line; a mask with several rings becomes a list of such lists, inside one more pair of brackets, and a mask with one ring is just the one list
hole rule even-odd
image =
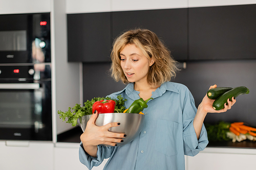
[[[0, 141], [0, 169], [87, 170], [78, 149], [79, 143]], [[256, 149], [207, 147], [194, 157], [185, 156], [185, 165], [186, 170], [255, 169], [254, 160]], [[102, 170], [106, 161], [93, 170]]]

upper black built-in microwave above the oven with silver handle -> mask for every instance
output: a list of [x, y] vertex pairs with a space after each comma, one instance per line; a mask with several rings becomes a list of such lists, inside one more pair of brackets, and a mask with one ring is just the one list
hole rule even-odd
[[0, 63], [51, 62], [50, 13], [0, 15]]

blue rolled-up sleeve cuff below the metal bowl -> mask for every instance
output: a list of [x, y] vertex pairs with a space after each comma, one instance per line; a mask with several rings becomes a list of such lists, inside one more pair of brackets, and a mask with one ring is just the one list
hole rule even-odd
[[109, 158], [114, 151], [114, 147], [103, 147], [101, 145], [98, 145], [97, 147], [97, 157], [92, 157], [86, 151], [84, 151], [82, 142], [80, 143], [79, 160], [90, 170], [93, 168], [93, 166], [99, 166], [103, 160]]

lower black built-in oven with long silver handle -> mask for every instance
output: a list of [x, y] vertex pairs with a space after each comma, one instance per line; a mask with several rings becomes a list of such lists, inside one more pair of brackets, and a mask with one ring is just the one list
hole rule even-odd
[[51, 65], [0, 65], [0, 140], [52, 140]]

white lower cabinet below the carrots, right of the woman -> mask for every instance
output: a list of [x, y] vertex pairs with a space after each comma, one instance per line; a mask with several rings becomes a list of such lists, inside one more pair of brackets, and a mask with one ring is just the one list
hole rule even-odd
[[206, 148], [194, 157], [187, 156], [186, 170], [255, 169], [256, 149]]

